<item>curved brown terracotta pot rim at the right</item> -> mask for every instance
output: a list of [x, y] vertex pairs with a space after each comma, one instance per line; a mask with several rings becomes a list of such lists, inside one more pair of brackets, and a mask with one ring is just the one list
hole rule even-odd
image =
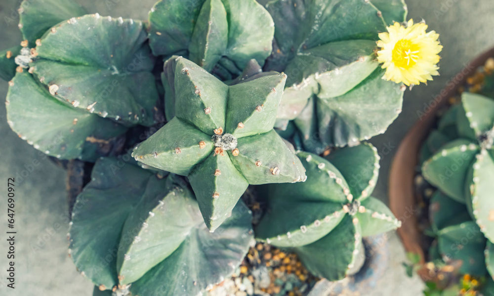
[[[417, 216], [415, 215], [418, 199], [414, 186], [415, 168], [418, 165], [420, 148], [436, 121], [437, 112], [446, 105], [450, 97], [457, 93], [458, 87], [465, 84], [467, 77], [474, 74], [479, 67], [485, 64], [488, 58], [493, 56], [494, 48], [478, 56], [468, 67], [458, 73], [458, 75], [463, 75], [463, 79], [454, 86], [447, 85], [444, 89], [445, 95], [440, 96], [431, 111], [423, 116], [406, 134], [391, 164], [388, 192], [389, 208], [402, 221], [402, 227], [398, 229], [398, 234], [406, 251], [418, 254], [422, 265], [425, 263], [425, 258], [421, 246], [422, 234], [418, 229]], [[422, 267], [418, 274], [424, 281], [429, 278], [425, 267]]]

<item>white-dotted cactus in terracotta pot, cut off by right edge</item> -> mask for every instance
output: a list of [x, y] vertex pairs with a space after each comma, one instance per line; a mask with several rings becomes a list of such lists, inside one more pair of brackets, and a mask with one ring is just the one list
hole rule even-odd
[[[456, 116], [455, 131], [452, 129]], [[424, 177], [456, 202], [466, 204], [472, 218], [490, 240], [494, 240], [494, 101], [464, 92], [461, 106], [450, 110], [441, 120], [439, 132], [452, 138], [422, 165]], [[446, 138], [444, 138], [446, 139]], [[428, 140], [430, 141], [430, 139]]]

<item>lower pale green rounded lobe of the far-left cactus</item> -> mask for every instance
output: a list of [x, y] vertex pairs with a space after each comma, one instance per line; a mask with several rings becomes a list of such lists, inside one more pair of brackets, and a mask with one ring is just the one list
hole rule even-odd
[[126, 130], [60, 102], [27, 72], [17, 73], [11, 84], [6, 99], [7, 122], [19, 137], [50, 156], [95, 161], [104, 156], [99, 145], [111, 148]]

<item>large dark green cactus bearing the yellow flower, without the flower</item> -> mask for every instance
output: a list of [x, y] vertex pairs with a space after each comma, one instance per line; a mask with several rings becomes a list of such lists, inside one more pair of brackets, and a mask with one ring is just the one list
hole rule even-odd
[[[382, 81], [377, 34], [402, 22], [402, 0], [260, 0], [275, 22], [265, 71], [288, 75], [281, 122], [294, 120], [305, 150], [355, 145], [401, 112], [404, 87]], [[374, 5], [375, 4], [375, 5]], [[281, 123], [280, 123], [281, 125]]]

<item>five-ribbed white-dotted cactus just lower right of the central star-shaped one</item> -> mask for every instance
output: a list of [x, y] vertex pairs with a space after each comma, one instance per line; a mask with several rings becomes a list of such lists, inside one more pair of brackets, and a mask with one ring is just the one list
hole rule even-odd
[[336, 281], [360, 269], [362, 237], [400, 226], [391, 211], [371, 197], [379, 156], [370, 144], [342, 148], [326, 158], [297, 156], [307, 181], [260, 188], [269, 210], [256, 239], [296, 252], [316, 276]]

